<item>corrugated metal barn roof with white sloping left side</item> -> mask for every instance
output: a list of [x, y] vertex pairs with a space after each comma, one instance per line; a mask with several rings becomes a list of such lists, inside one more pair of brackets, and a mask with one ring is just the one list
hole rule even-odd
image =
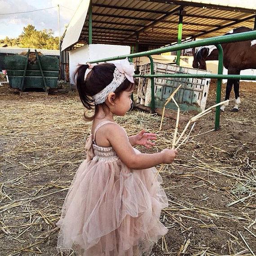
[[[82, 0], [62, 50], [88, 42], [88, 5], [89, 0]], [[92, 0], [93, 44], [134, 45], [137, 35], [140, 44], [153, 48], [175, 43], [181, 8], [182, 40], [223, 35], [238, 26], [253, 28], [256, 17], [255, 1]]]

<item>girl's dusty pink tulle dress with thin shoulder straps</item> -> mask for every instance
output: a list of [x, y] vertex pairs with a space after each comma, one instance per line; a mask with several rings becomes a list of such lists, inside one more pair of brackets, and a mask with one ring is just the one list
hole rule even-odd
[[149, 255], [168, 231], [159, 221], [168, 207], [162, 178], [154, 180], [155, 168], [128, 168], [112, 147], [97, 146], [95, 136], [87, 139], [86, 150], [57, 222], [57, 249], [82, 256]]

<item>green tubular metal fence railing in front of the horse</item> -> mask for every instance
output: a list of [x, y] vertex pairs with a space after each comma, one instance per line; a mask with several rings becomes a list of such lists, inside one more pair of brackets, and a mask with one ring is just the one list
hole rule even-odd
[[[243, 80], [256, 80], [256, 75], [223, 75], [223, 49], [221, 44], [223, 43], [231, 43], [231, 42], [238, 42], [238, 41], [246, 41], [246, 40], [255, 40], [256, 39], [256, 31], [249, 31], [239, 34], [230, 34], [230, 35], [222, 35], [216, 36], [212, 38], [207, 38], [198, 41], [187, 42], [183, 44], [176, 44], [171, 45], [159, 49], [154, 49], [146, 52], [141, 53], [132, 53], [128, 55], [110, 57], [105, 59], [99, 59], [91, 61], [91, 63], [99, 63], [99, 62], [108, 62], [113, 60], [120, 60], [126, 57], [128, 58], [136, 58], [147, 56], [150, 58], [150, 75], [134, 75], [134, 77], [149, 77], [151, 78], [151, 110], [154, 111], [154, 78], [155, 77], [179, 77], [179, 78], [215, 78], [217, 79], [217, 87], [216, 87], [216, 103], [221, 102], [221, 82], [222, 79], [243, 79]], [[196, 48], [200, 46], [207, 46], [207, 45], [215, 45], [219, 50], [219, 64], [218, 64], [218, 74], [163, 74], [163, 75], [154, 75], [154, 66], [153, 66], [153, 59], [151, 55], [159, 54], [159, 53], [167, 53], [167, 52], [174, 52], [183, 49], [190, 49]], [[219, 129], [220, 127], [220, 106], [216, 107], [216, 116], [215, 116], [215, 129]]]

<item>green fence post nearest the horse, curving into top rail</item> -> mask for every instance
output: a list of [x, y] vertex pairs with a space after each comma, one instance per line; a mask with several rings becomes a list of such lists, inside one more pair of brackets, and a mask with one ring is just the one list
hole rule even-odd
[[[218, 75], [223, 74], [223, 49], [221, 44], [216, 45], [219, 50], [219, 64], [218, 64]], [[221, 83], [222, 79], [217, 79], [217, 88], [216, 88], [216, 104], [221, 102]], [[220, 115], [221, 115], [221, 106], [216, 106], [215, 112], [215, 131], [220, 128]]]

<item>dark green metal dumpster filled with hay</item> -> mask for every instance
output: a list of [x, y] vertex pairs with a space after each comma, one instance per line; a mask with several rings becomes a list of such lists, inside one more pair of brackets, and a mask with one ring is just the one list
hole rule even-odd
[[31, 88], [42, 88], [45, 92], [49, 88], [57, 88], [59, 75], [59, 59], [39, 55], [35, 50], [35, 61], [29, 59], [30, 49], [27, 55], [9, 55], [4, 57], [4, 67], [7, 70], [11, 88], [21, 91]]

